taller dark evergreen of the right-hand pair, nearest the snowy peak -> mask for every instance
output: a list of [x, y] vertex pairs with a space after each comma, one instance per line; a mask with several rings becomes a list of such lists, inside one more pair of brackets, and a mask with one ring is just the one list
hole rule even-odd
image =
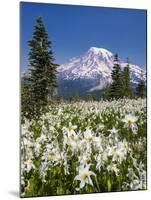
[[121, 98], [122, 97], [122, 78], [121, 78], [121, 66], [119, 64], [118, 54], [114, 56], [114, 66], [112, 69], [112, 83], [110, 86], [110, 98]]

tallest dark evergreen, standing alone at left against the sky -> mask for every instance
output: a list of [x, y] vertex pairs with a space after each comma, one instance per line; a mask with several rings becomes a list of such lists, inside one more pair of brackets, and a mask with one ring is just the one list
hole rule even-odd
[[[54, 64], [51, 41], [43, 24], [42, 17], [38, 17], [34, 27], [32, 40], [28, 42], [30, 85], [30, 110], [35, 118], [39, 118], [47, 109], [48, 98], [52, 97], [56, 87], [56, 67]], [[32, 111], [31, 111], [32, 110]]]

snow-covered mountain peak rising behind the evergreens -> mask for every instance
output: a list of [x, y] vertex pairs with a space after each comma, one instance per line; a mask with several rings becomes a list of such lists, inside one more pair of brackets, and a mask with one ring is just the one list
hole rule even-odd
[[[127, 63], [120, 61], [124, 68]], [[114, 65], [112, 52], [91, 47], [83, 55], [71, 58], [69, 62], [58, 67], [59, 80], [68, 89], [71, 85], [85, 87], [87, 92], [103, 89], [111, 83], [111, 72]], [[137, 65], [129, 64], [131, 71], [131, 82], [137, 84], [140, 79], [146, 80], [146, 73]], [[75, 83], [75, 84], [74, 84]], [[63, 88], [62, 88], [63, 89]]]

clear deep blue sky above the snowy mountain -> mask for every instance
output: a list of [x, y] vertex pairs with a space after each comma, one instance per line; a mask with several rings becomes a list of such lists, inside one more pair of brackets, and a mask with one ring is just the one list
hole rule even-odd
[[146, 68], [145, 10], [25, 2], [20, 8], [22, 70], [28, 65], [27, 41], [38, 16], [43, 17], [58, 64], [95, 46]]

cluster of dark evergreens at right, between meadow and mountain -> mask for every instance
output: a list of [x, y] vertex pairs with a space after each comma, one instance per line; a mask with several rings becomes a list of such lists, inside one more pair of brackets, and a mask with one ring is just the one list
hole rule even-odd
[[[142, 74], [143, 76], [143, 74]], [[134, 98], [145, 97], [146, 86], [142, 79], [135, 88], [132, 88], [130, 66], [127, 58], [127, 65], [121, 69], [118, 54], [114, 56], [114, 66], [111, 73], [112, 82], [107, 85], [102, 91], [103, 99], [119, 99], [119, 98]]]

